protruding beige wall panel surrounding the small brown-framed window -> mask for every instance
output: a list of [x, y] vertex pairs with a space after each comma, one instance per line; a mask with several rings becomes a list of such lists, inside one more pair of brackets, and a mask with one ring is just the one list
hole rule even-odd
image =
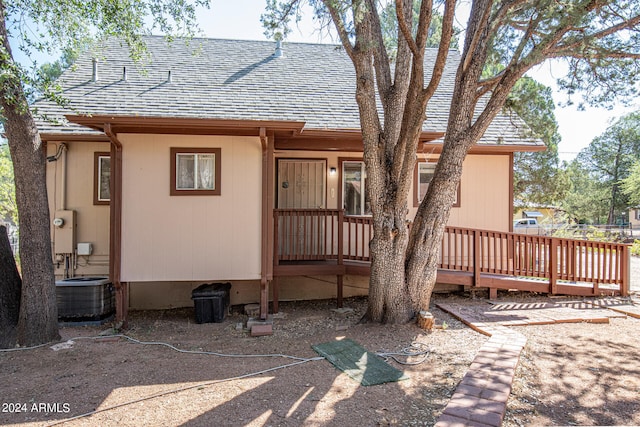
[[[258, 138], [119, 135], [122, 280], [260, 277]], [[170, 196], [170, 147], [221, 148], [220, 196]]]

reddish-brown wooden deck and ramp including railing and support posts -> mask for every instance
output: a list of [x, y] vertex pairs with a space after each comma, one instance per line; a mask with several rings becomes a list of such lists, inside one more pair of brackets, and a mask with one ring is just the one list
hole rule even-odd
[[[339, 209], [274, 210], [274, 305], [277, 277], [369, 275], [370, 217]], [[629, 248], [621, 243], [447, 227], [438, 283], [548, 294], [597, 296], [629, 292]]]

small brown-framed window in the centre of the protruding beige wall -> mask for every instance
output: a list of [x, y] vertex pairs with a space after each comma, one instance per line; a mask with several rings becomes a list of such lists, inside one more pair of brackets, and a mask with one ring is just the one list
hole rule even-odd
[[220, 148], [171, 148], [172, 196], [220, 195]]

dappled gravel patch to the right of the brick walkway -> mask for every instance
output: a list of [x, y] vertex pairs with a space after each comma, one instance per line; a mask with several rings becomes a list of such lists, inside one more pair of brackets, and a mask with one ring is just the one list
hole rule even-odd
[[[640, 257], [631, 257], [640, 305]], [[640, 319], [517, 328], [527, 337], [504, 427], [640, 425]]]

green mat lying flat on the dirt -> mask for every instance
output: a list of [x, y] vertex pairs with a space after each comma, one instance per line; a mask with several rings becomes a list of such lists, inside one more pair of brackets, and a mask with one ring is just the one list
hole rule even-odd
[[402, 371], [350, 339], [316, 344], [311, 348], [362, 385], [408, 379]]

